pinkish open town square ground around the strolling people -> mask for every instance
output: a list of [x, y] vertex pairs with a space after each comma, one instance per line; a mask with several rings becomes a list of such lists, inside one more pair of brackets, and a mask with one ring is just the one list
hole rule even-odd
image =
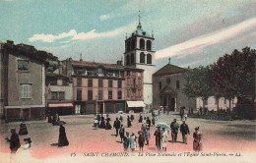
[[[143, 114], [145, 117], [152, 117], [151, 114]], [[105, 117], [105, 115], [104, 115]], [[118, 114], [110, 114], [110, 124]], [[124, 127], [127, 127], [127, 114], [123, 114]], [[178, 114], [170, 113], [169, 115], [161, 114], [156, 124], [165, 122], [168, 125], [176, 118], [181, 125]], [[131, 128], [125, 128], [126, 132], [134, 132], [138, 136], [141, 129], [141, 123], [138, 123], [139, 114], [135, 114], [135, 120], [132, 122]], [[90, 154], [90, 152], [109, 153], [122, 152], [123, 144], [120, 143], [120, 136], [114, 136], [115, 130], [94, 130], [94, 115], [79, 116], [61, 116], [60, 120], [65, 121], [66, 134], [69, 140], [69, 146], [58, 147], [56, 145], [59, 136], [59, 126], [52, 126], [47, 121], [27, 122], [29, 135], [32, 138], [31, 153], [32, 157], [37, 159], [45, 159], [54, 156]], [[168, 134], [167, 153], [187, 151], [193, 152], [193, 132], [195, 127], [200, 126], [200, 132], [203, 134], [203, 151], [204, 152], [250, 152], [255, 151], [255, 121], [237, 120], [237, 121], [212, 121], [204, 119], [188, 118], [187, 124], [190, 129], [188, 135], [188, 143], [181, 143], [182, 136], [179, 133], [177, 141], [172, 143], [171, 135]], [[5, 141], [5, 137], [10, 137], [10, 129], [16, 128], [19, 132], [19, 122], [1, 124], [1, 153], [10, 153], [9, 143]], [[144, 153], [158, 153], [156, 149], [154, 133], [156, 128], [151, 127], [150, 145], [144, 147]], [[21, 142], [28, 136], [20, 136]], [[128, 149], [128, 152], [131, 152]], [[139, 152], [139, 147], [134, 153]]]

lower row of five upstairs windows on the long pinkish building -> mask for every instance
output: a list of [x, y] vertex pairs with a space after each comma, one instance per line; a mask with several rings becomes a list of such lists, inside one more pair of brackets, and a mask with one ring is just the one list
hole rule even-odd
[[[113, 98], [113, 91], [108, 90], [108, 99]], [[103, 99], [103, 91], [98, 90], [97, 100]], [[117, 99], [122, 99], [122, 91], [117, 91]], [[82, 100], [82, 90], [77, 90], [77, 100]], [[93, 100], [93, 90], [88, 90], [88, 100]]]

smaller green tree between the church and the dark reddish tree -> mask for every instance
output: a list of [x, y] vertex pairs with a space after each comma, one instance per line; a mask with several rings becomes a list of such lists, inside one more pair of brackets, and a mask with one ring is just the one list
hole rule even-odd
[[203, 100], [203, 108], [205, 109], [205, 101], [209, 96], [213, 95], [211, 67], [199, 66], [189, 70], [185, 77], [182, 92], [188, 97], [200, 97]]

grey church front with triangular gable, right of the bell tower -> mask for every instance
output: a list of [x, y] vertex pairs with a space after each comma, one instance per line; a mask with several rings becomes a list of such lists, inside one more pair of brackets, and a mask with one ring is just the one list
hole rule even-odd
[[153, 75], [153, 108], [160, 106], [169, 111], [179, 111], [180, 107], [196, 109], [196, 99], [182, 93], [187, 69], [170, 62]]

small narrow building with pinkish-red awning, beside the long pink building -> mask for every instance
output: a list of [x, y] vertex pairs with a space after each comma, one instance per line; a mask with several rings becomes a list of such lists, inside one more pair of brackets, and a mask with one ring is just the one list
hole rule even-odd
[[46, 112], [59, 115], [75, 114], [73, 81], [62, 73], [62, 62], [49, 61], [46, 70]]

